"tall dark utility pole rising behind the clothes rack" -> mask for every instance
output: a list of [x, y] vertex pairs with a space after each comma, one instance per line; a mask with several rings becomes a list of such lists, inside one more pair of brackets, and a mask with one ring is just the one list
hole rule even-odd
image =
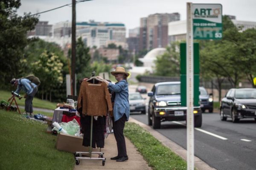
[[72, 91], [71, 95], [76, 95], [76, 0], [72, 0], [72, 49], [71, 49], [71, 67], [72, 67]]

